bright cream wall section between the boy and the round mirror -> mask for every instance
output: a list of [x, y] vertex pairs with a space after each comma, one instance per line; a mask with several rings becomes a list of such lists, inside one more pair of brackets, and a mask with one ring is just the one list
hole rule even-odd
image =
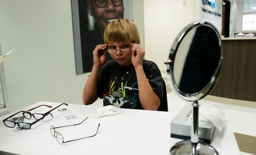
[[144, 0], [146, 60], [154, 61], [160, 70], [166, 71], [172, 43], [178, 33], [193, 22], [193, 1]]

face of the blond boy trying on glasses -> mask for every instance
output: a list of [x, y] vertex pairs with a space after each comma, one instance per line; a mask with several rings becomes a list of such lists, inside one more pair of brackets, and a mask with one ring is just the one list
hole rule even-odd
[[132, 57], [132, 51], [127, 53], [121, 53], [119, 49], [121, 48], [131, 48], [131, 42], [130, 43], [108, 43], [109, 49], [117, 49], [117, 52], [115, 54], [110, 54], [112, 59], [116, 61], [120, 67], [126, 67], [130, 66], [131, 63], [131, 57]]

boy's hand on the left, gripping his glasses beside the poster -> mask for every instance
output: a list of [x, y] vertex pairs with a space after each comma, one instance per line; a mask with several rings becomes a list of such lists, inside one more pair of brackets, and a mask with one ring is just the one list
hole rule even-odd
[[93, 51], [93, 63], [96, 67], [102, 67], [105, 63], [106, 56], [107, 56], [107, 46], [108, 44], [105, 43], [103, 45], [97, 45]]

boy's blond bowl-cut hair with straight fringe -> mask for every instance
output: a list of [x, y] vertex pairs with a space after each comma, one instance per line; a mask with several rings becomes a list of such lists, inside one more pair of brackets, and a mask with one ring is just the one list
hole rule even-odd
[[130, 19], [115, 19], [110, 22], [104, 31], [105, 43], [137, 43], [140, 44], [139, 30]]

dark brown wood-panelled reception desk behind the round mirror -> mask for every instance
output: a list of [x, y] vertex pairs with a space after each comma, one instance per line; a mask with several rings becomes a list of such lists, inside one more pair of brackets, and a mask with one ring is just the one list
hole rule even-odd
[[256, 37], [222, 38], [222, 57], [210, 95], [256, 102]]

